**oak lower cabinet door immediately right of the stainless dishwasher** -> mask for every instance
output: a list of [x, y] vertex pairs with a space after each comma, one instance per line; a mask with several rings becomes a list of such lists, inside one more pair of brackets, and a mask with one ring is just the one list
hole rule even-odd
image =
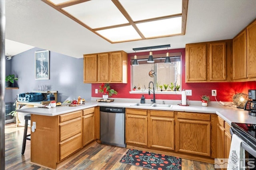
[[148, 145], [147, 115], [126, 114], [126, 143]]

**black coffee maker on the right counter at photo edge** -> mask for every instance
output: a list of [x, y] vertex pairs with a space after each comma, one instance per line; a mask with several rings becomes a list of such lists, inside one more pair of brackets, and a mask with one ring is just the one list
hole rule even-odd
[[[249, 111], [249, 115], [256, 116], [256, 90], [248, 90], [248, 100], [244, 105], [244, 110]], [[249, 104], [249, 109], [247, 109]]]

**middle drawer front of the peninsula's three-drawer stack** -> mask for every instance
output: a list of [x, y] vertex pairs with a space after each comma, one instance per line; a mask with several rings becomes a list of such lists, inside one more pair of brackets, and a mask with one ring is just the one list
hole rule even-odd
[[82, 119], [78, 117], [74, 121], [60, 125], [60, 141], [64, 141], [82, 131]]

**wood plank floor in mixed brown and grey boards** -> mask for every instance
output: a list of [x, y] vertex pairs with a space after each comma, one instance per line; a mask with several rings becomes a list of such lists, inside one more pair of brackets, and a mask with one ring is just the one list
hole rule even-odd
[[[24, 127], [7, 124], [5, 127], [6, 170], [48, 170], [30, 163], [30, 141], [21, 155]], [[28, 128], [30, 133], [30, 128]], [[43, 147], [43, 146], [42, 146]], [[46, 148], [47, 149], [47, 148]], [[60, 170], [148, 170], [120, 163], [128, 149], [92, 143], [86, 150], [60, 168]], [[214, 170], [213, 164], [182, 159], [182, 170]]]

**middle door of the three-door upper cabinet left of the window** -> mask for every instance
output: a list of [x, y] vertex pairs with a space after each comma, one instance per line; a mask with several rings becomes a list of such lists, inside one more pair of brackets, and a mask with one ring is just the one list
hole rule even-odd
[[98, 54], [98, 82], [109, 82], [109, 53]]

